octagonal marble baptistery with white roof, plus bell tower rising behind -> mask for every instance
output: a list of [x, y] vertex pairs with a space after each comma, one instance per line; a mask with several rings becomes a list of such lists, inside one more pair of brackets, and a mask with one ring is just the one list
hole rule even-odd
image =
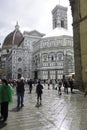
[[67, 8], [52, 10], [53, 30], [33, 44], [33, 77], [62, 79], [74, 73], [73, 35], [67, 28]]

